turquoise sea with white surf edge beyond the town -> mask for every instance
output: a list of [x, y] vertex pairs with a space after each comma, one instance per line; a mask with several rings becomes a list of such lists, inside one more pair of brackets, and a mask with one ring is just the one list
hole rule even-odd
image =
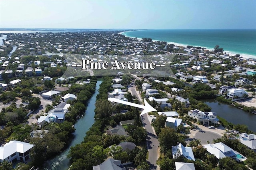
[[175, 45], [193, 45], [214, 49], [220, 45], [226, 53], [256, 58], [256, 30], [139, 30], [123, 32], [132, 38], [152, 38]]

